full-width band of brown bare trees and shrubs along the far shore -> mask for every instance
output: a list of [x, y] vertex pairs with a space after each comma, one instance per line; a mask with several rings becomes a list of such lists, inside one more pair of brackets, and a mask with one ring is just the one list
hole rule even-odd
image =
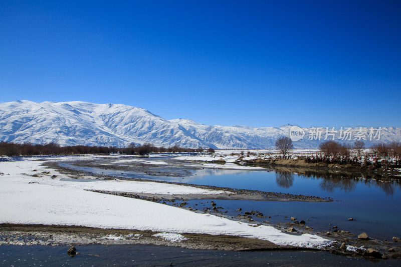
[[[298, 153], [292, 148], [280, 155], [281, 147], [277, 147], [276, 151], [269, 153], [257, 153], [244, 150], [239, 153], [231, 153], [238, 155], [235, 163], [250, 165], [273, 165], [288, 167], [323, 167], [323, 168], [340, 168], [355, 170], [375, 170], [378, 168], [391, 169], [401, 167], [401, 143], [391, 142], [389, 144], [378, 143], [371, 148], [364, 149], [364, 143], [356, 141], [353, 147], [341, 145], [335, 141], [325, 141], [319, 145], [319, 149], [315, 152]], [[226, 149], [223, 149], [226, 150]], [[231, 150], [231, 149], [227, 149]], [[233, 149], [234, 150], [234, 149]], [[245, 150], [246, 151], [246, 150]], [[61, 146], [57, 143], [49, 144], [31, 144], [31, 143], [13, 143], [0, 142], [0, 157], [15, 156], [43, 156], [43, 155], [83, 155], [83, 154], [120, 154], [120, 155], [148, 155], [149, 153], [174, 153], [174, 152], [195, 152], [195, 153], [215, 153], [213, 148], [183, 148], [178, 145], [170, 147], [156, 147], [151, 143], [143, 145], [135, 145], [131, 143], [128, 147], [103, 147], [103, 146]], [[256, 156], [252, 159], [245, 157]], [[3, 159], [4, 160], [4, 159]], [[224, 164], [224, 160], [216, 160], [216, 163]]]

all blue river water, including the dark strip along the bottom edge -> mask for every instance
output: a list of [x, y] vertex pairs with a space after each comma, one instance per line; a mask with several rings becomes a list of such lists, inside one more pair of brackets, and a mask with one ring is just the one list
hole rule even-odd
[[[152, 159], [149, 159], [152, 160]], [[157, 161], [158, 159], [153, 159]], [[165, 159], [163, 159], [165, 160]], [[134, 163], [135, 159], [132, 160]], [[103, 160], [104, 163], [104, 160]], [[159, 162], [160, 163], [160, 162]], [[157, 163], [157, 164], [159, 164]], [[130, 164], [129, 162], [126, 164]], [[65, 166], [74, 167], [72, 164]], [[191, 184], [214, 185], [232, 188], [254, 189], [268, 192], [304, 194], [330, 197], [331, 202], [304, 201], [214, 201], [225, 210], [227, 216], [236, 216], [236, 209], [258, 210], [270, 223], [305, 220], [316, 231], [341, 230], [359, 234], [366, 232], [379, 239], [391, 239], [401, 234], [401, 186], [396, 180], [380, 182], [363, 179], [358, 175], [327, 173], [302, 173], [283, 170], [225, 170], [191, 169], [184, 177], [152, 177], [143, 173], [107, 170], [97, 167], [74, 168], [125, 178], [147, 178]], [[202, 209], [210, 207], [211, 200], [186, 201], [188, 206]], [[196, 204], [196, 205], [195, 205]], [[270, 218], [268, 217], [270, 216]], [[352, 217], [355, 220], [348, 221]], [[311, 251], [220, 251], [183, 249], [154, 245], [85, 245], [78, 246], [80, 254], [67, 255], [66, 246], [0, 246], [2, 266], [399, 266], [401, 260], [375, 262], [363, 258], [332, 255]]]

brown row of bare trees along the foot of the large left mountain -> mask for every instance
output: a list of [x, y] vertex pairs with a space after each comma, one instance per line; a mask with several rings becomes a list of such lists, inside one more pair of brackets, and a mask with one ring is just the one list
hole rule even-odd
[[[0, 142], [0, 156], [39, 156], [39, 155], [77, 155], [77, 154], [110, 154], [110, 153], [124, 153], [124, 154], [139, 154], [144, 155], [148, 153], [163, 153], [163, 152], [203, 152], [202, 147], [197, 149], [182, 148], [177, 145], [172, 147], [156, 147], [151, 143], [136, 146], [130, 144], [126, 148], [118, 148], [114, 146], [60, 146], [56, 143], [49, 143], [45, 145], [35, 145], [31, 143], [18, 144], [13, 142]], [[209, 153], [214, 153], [213, 148], [207, 150]]]

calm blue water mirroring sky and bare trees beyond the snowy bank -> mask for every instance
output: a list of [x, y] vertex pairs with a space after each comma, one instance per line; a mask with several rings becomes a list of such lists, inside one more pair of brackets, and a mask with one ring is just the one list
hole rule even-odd
[[[149, 161], [151, 159], [146, 159]], [[295, 216], [306, 220], [307, 225], [319, 230], [329, 230], [331, 225], [359, 234], [391, 239], [401, 234], [401, 186], [398, 182], [379, 182], [352, 178], [333, 173], [308, 172], [303, 175], [289, 171], [246, 171], [224, 169], [190, 170], [190, 177], [152, 177], [145, 174], [120, 170], [82, 168], [87, 171], [124, 177], [146, 178], [201, 185], [214, 185], [268, 192], [303, 194], [331, 197], [333, 202], [301, 201], [235, 201], [216, 200], [218, 205], [226, 205], [235, 216], [238, 207], [245, 210], [258, 210], [265, 215], [281, 215], [277, 221], [283, 222], [283, 216]], [[167, 169], [167, 168], [166, 168]], [[121, 174], [123, 173], [123, 174]], [[353, 217], [356, 221], [348, 221]], [[265, 220], [267, 218], [264, 218]], [[276, 221], [272, 217], [273, 223]]]

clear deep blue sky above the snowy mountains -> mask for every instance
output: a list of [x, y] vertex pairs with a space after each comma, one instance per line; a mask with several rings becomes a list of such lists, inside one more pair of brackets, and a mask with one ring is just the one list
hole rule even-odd
[[400, 1], [0, 2], [0, 102], [401, 127]]

